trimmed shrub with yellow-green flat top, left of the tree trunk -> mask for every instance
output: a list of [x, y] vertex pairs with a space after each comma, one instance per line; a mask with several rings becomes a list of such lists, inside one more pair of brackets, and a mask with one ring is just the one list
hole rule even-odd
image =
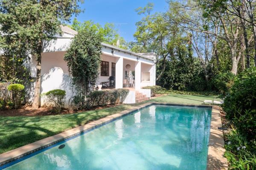
[[24, 88], [24, 85], [21, 84], [11, 84], [7, 87], [8, 91], [11, 92], [11, 100], [15, 109], [20, 107], [24, 99]]

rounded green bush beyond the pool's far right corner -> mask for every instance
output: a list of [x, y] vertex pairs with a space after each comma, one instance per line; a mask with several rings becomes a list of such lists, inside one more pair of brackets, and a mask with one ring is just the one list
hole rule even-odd
[[216, 91], [225, 96], [232, 87], [235, 77], [230, 71], [217, 74], [212, 80]]

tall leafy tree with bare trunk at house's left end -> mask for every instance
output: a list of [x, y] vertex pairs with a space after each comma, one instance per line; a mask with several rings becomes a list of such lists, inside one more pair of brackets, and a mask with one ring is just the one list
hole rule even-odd
[[[26, 43], [26, 50], [37, 61], [32, 108], [38, 108], [41, 88], [41, 52], [45, 41], [61, 34], [60, 25], [80, 12], [82, 0], [1, 0], [0, 25], [6, 39]], [[7, 43], [10, 41], [6, 41]]]

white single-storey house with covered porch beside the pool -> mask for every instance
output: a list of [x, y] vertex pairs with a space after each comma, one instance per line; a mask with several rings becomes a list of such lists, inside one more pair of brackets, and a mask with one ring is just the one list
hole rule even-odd
[[[69, 102], [75, 92], [71, 88], [70, 74], [64, 55], [76, 31], [67, 26], [62, 27], [63, 34], [56, 40], [44, 43], [41, 60], [41, 93], [53, 89], [62, 89], [67, 93]], [[141, 102], [150, 98], [150, 90], [144, 86], [155, 85], [155, 54], [137, 54], [113, 45], [102, 43], [102, 62], [97, 85], [108, 88], [128, 88], [130, 90], [125, 103]], [[31, 57], [32, 77], [36, 77], [36, 62]], [[111, 81], [114, 77], [115, 81]], [[104, 89], [104, 88], [102, 88]], [[33, 94], [30, 94], [33, 96]], [[41, 99], [41, 105], [44, 104]]]

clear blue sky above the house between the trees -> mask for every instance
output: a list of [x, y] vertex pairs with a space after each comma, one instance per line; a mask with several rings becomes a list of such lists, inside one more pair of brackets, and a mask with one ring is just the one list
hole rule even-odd
[[93, 20], [102, 26], [106, 22], [127, 23], [120, 25], [120, 34], [126, 41], [134, 41], [135, 23], [143, 17], [138, 15], [135, 9], [140, 6], [146, 6], [148, 2], [154, 3], [152, 13], [164, 12], [168, 8], [166, 0], [84, 0], [84, 3], [81, 5], [81, 9], [84, 9], [84, 12], [76, 18], [80, 22]]

